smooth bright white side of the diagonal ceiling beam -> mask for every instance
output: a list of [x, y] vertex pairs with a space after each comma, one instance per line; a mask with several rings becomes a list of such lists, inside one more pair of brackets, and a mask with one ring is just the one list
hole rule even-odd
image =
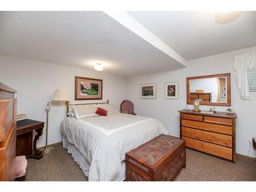
[[151, 45], [155, 46], [157, 49], [161, 50], [165, 54], [169, 55], [181, 65], [186, 67], [186, 59], [179, 55], [176, 51], [165, 44], [160, 38], [153, 34], [150, 30], [141, 25], [133, 16], [125, 11], [103, 11], [118, 23], [122, 24], [127, 29], [149, 42]]

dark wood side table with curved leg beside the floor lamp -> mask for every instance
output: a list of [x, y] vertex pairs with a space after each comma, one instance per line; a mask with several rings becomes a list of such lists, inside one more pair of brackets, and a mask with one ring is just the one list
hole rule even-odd
[[[45, 126], [44, 124], [45, 122], [32, 119], [17, 121], [16, 156], [25, 155], [27, 159], [41, 159], [44, 156], [42, 155], [42, 152], [36, 148], [36, 142], [42, 135], [42, 129], [44, 129]], [[35, 130], [37, 134], [33, 140], [32, 148], [33, 130]]]

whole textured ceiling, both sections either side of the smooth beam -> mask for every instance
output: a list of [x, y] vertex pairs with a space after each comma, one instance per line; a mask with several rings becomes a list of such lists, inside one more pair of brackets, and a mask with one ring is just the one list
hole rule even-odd
[[[128, 13], [187, 60], [256, 46], [256, 12]], [[0, 12], [0, 54], [129, 77], [184, 67], [137, 34], [101, 11]]]

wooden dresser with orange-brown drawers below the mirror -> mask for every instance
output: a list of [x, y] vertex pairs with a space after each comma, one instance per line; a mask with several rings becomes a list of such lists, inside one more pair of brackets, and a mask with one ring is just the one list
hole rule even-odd
[[179, 112], [186, 147], [236, 163], [236, 113]]

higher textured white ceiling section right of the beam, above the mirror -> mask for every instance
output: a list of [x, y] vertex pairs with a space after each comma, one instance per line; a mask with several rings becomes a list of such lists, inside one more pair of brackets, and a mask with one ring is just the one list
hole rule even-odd
[[226, 24], [216, 22], [215, 12], [128, 13], [187, 60], [256, 46], [256, 11]]

